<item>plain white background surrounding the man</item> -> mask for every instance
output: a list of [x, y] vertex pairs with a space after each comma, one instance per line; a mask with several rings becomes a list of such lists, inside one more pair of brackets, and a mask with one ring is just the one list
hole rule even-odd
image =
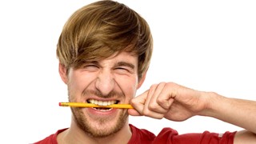
[[[66, 85], [58, 75], [58, 36], [70, 14], [93, 1], [0, 2], [1, 143], [37, 142], [70, 126]], [[255, 100], [255, 1], [120, 1], [150, 24], [154, 55], [138, 94], [158, 82]], [[241, 130], [214, 118], [186, 122], [131, 117], [158, 134], [172, 127], [188, 132]]]

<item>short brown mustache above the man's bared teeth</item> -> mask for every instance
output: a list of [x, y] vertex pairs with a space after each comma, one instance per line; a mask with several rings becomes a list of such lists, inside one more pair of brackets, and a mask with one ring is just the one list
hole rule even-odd
[[122, 92], [118, 92], [115, 90], [110, 91], [109, 94], [102, 94], [102, 92], [100, 90], [83, 90], [82, 96], [86, 96], [86, 95], [96, 95], [101, 98], [114, 98], [114, 97], [124, 97], [125, 96], [125, 94], [123, 94]]

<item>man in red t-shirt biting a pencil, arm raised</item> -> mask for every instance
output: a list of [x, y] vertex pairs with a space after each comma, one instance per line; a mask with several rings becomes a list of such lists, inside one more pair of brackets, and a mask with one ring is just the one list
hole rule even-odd
[[[252, 143], [256, 142], [256, 102], [192, 90], [161, 82], [135, 97], [146, 78], [153, 40], [146, 21], [113, 1], [77, 10], [63, 27], [57, 55], [59, 74], [69, 102], [98, 106], [131, 104], [134, 109], [71, 107], [70, 128], [42, 143]], [[128, 122], [128, 115], [184, 121], [209, 116], [245, 128], [243, 131], [178, 135], [164, 128], [157, 136]]]

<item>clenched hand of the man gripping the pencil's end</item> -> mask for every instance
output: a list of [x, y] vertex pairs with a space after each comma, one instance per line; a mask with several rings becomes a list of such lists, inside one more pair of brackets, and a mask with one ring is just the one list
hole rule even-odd
[[206, 110], [207, 97], [202, 94], [205, 93], [173, 82], [161, 82], [133, 98], [130, 103], [134, 109], [128, 110], [128, 113], [184, 121]]

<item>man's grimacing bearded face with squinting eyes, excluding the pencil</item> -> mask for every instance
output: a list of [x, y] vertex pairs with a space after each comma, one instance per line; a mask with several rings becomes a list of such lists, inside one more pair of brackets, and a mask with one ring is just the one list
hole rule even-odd
[[[128, 104], [138, 89], [138, 57], [122, 52], [99, 62], [84, 63], [67, 75], [70, 102]], [[75, 108], [74, 122], [93, 137], [106, 137], [128, 124], [126, 109]]]

